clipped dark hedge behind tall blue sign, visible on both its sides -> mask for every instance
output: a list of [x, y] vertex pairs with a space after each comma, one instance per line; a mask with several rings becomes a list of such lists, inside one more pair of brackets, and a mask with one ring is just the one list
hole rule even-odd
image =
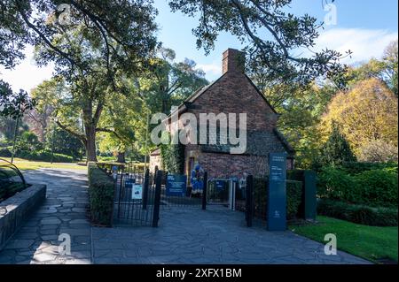
[[[259, 210], [264, 217], [267, 217], [267, 186], [268, 178], [254, 178], [254, 201], [255, 213]], [[295, 180], [286, 180], [286, 217], [294, 219], [297, 217], [302, 199], [302, 182]]]

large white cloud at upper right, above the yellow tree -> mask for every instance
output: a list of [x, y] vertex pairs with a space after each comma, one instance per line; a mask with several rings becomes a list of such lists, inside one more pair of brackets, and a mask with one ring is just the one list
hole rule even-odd
[[380, 58], [389, 42], [397, 38], [397, 32], [383, 29], [332, 28], [317, 38], [316, 50], [328, 48], [342, 54], [351, 50], [352, 56], [344, 58], [342, 63], [356, 64], [372, 57]]

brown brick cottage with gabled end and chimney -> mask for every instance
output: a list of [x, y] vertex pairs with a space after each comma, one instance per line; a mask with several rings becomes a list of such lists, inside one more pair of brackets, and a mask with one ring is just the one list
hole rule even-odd
[[[184, 147], [184, 173], [187, 175], [197, 163], [208, 172], [209, 178], [240, 178], [244, 172], [263, 175], [268, 171], [270, 152], [286, 152], [288, 169], [293, 168], [294, 151], [276, 128], [278, 113], [246, 76], [244, 57], [239, 50], [226, 50], [223, 75], [188, 97], [176, 111], [178, 116], [190, 112], [197, 120], [200, 120], [200, 113], [236, 113], [237, 117], [239, 113], [246, 113], [246, 151], [232, 155], [229, 145], [189, 143]], [[151, 171], [155, 165], [161, 168], [160, 149], [150, 156]]]

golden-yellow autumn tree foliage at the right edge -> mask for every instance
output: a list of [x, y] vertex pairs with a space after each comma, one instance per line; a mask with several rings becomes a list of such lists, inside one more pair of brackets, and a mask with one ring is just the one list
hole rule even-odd
[[326, 140], [335, 121], [356, 154], [364, 144], [375, 140], [397, 144], [397, 102], [383, 82], [364, 80], [333, 97], [320, 131]]

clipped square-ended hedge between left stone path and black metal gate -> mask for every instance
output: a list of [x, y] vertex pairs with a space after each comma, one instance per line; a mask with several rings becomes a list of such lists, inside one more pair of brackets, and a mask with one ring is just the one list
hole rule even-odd
[[91, 222], [96, 225], [113, 225], [113, 179], [88, 163], [89, 197]]

